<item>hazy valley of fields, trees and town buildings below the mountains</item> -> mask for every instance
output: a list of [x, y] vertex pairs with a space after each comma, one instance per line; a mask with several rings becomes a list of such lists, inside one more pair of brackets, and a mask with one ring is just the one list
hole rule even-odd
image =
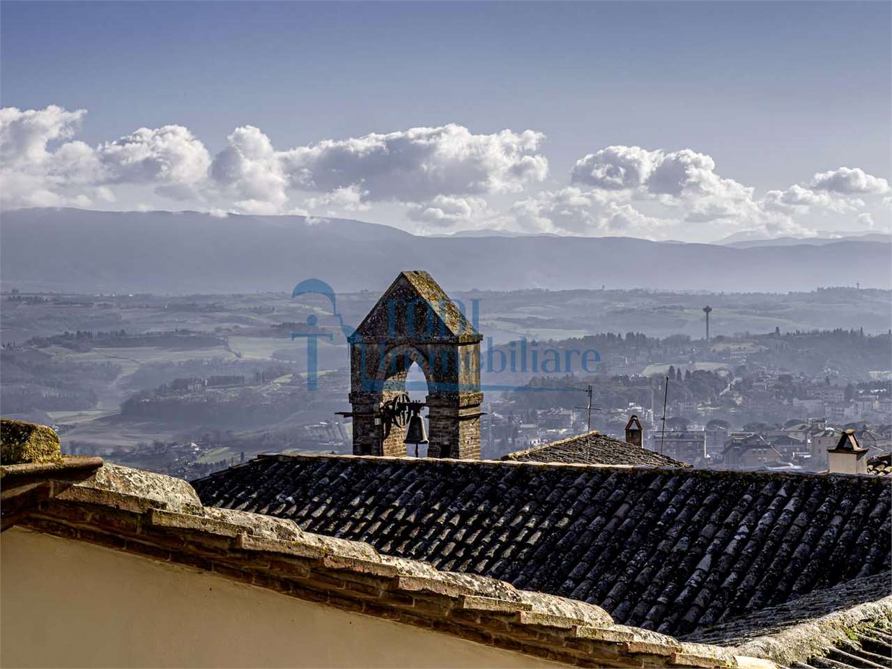
[[[356, 323], [375, 297], [342, 296], [345, 321]], [[646, 448], [694, 467], [821, 471], [846, 429], [871, 456], [892, 451], [888, 331], [808, 327], [810, 319], [826, 322], [826, 312], [810, 306], [819, 301], [835, 302], [850, 323], [863, 313], [875, 324], [888, 291], [457, 297], [482, 305], [482, 351], [529, 357], [538, 343], [561, 359], [566, 351], [598, 353], [597, 369], [577, 365], [569, 374], [532, 359], [484, 360], [483, 458], [591, 430], [622, 439], [632, 415]], [[351, 449], [351, 418], [337, 415], [346, 409], [349, 359], [325, 301], [16, 290], [2, 299], [4, 415], [54, 425], [72, 454], [194, 478], [260, 452]], [[570, 302], [584, 307], [551, 316]], [[766, 318], [752, 317], [754, 306], [774, 314], [775, 325], [756, 331]], [[617, 311], [657, 335], [595, 334]], [[308, 392], [306, 343], [291, 336], [310, 313], [320, 332], [336, 335], [319, 344], [316, 392]], [[683, 334], [666, 334], [673, 328], [666, 313]], [[754, 331], [739, 331], [747, 318]], [[417, 368], [409, 387], [424, 399]]]

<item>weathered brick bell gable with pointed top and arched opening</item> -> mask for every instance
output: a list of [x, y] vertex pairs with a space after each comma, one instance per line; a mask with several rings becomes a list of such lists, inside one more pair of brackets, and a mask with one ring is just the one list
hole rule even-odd
[[406, 454], [381, 406], [405, 392], [415, 362], [428, 388], [428, 456], [480, 458], [482, 339], [427, 272], [401, 272], [349, 338], [353, 453]]

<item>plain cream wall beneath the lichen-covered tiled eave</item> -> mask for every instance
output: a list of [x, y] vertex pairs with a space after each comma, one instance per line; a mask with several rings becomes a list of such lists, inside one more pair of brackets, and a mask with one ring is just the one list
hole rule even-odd
[[19, 528], [0, 549], [4, 667], [558, 666]]

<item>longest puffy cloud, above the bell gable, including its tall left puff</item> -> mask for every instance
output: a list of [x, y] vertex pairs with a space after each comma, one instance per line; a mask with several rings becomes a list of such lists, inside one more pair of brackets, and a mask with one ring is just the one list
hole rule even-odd
[[213, 161], [211, 176], [238, 206], [281, 211], [290, 190], [312, 195], [310, 210], [365, 211], [369, 202], [433, 201], [440, 195], [513, 193], [548, 174], [535, 153], [544, 136], [533, 130], [474, 135], [450, 124], [326, 139], [277, 151], [258, 128], [237, 128]]

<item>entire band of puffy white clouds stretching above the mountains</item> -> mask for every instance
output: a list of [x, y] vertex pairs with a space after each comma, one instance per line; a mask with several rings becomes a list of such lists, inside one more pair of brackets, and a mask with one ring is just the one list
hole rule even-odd
[[696, 227], [715, 238], [744, 229], [814, 234], [809, 219], [825, 214], [874, 227], [879, 202], [892, 201], [886, 178], [849, 167], [756, 194], [690, 148], [607, 146], [552, 175], [541, 153], [545, 135], [532, 129], [474, 134], [448, 124], [278, 148], [246, 125], [211, 155], [179, 125], [87, 145], [76, 139], [86, 116], [56, 105], [0, 109], [3, 208], [110, 207], [120, 189], [136, 188], [215, 215], [373, 211], [375, 218], [384, 206], [422, 232], [500, 227], [667, 238]]

